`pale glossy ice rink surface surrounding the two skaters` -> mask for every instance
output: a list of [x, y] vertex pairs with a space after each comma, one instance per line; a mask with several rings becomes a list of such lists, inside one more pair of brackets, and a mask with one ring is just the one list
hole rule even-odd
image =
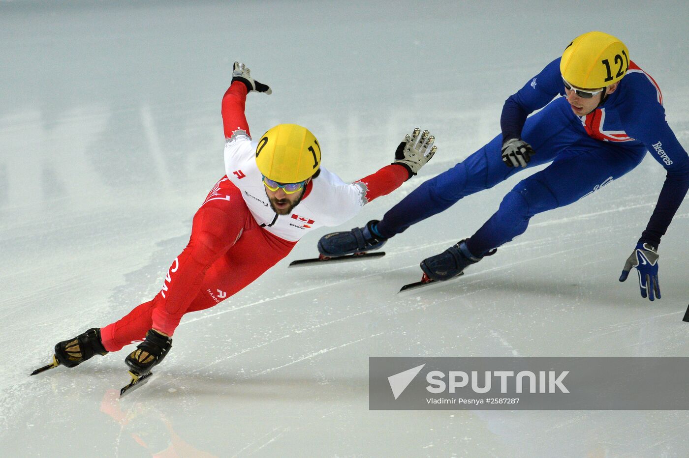
[[[224, 175], [233, 61], [254, 135], [308, 127], [354, 181], [413, 127], [438, 153], [340, 230], [380, 218], [500, 131], [504, 100], [603, 30], [659, 83], [689, 149], [686, 1], [0, 1], [0, 455], [683, 457], [686, 411], [369, 411], [369, 356], [688, 356], [689, 205], [659, 248], [662, 298], [617, 281], [664, 182], [646, 155], [461, 279], [397, 294], [531, 171], [391, 239], [380, 260], [288, 269], [189, 314], [150, 382], [134, 346], [28, 374], [160, 290]], [[686, 384], [686, 380], [677, 383]], [[176, 455], [174, 455], [176, 454]]]

